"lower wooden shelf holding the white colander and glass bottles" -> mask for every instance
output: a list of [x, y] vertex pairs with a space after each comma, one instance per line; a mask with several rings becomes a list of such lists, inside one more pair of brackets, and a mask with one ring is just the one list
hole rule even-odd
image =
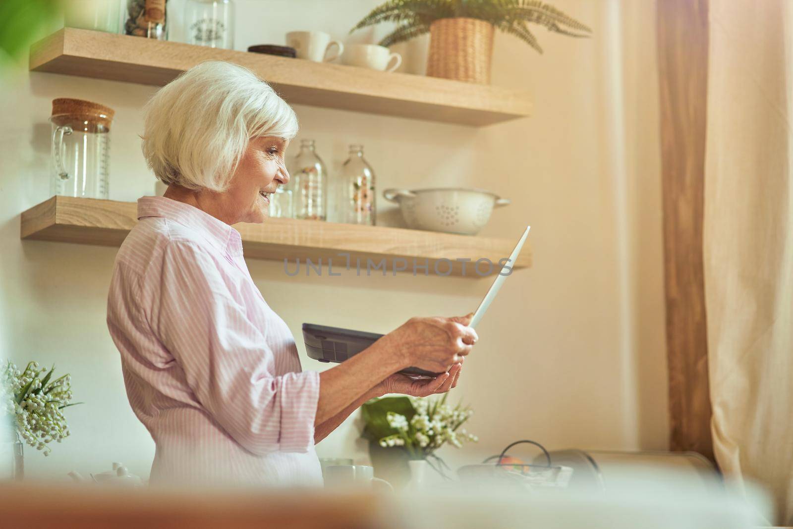
[[[21, 238], [119, 246], [137, 222], [137, 204], [134, 202], [53, 196], [22, 213]], [[290, 270], [294, 269], [294, 261], [298, 258], [301, 266], [305, 266], [306, 258], [316, 264], [321, 257], [325, 268], [323, 273], [327, 273], [328, 258], [333, 258], [334, 268], [338, 270], [346, 264], [339, 253], [350, 253], [352, 266], [355, 266], [354, 260], [360, 258], [364, 271], [367, 258], [375, 264], [385, 258], [389, 274], [394, 261], [404, 258], [409, 273], [412, 273], [414, 259], [418, 265], [423, 265], [426, 259], [430, 265], [429, 273], [433, 273], [436, 261], [449, 259], [454, 264], [453, 273], [460, 275], [462, 263], [455, 260], [468, 258], [471, 263], [466, 265], [465, 276], [479, 277], [473, 271], [474, 261], [487, 258], [497, 264], [500, 259], [509, 257], [515, 245], [513, 240], [312, 220], [268, 219], [263, 224], [237, 224], [234, 227], [242, 235], [246, 257], [289, 259]], [[528, 266], [531, 266], [531, 249], [526, 245], [514, 268]], [[485, 265], [481, 266], [482, 272], [485, 268]], [[439, 263], [439, 271], [446, 272], [447, 269], [448, 263]], [[419, 269], [418, 273], [423, 273], [423, 270]]]

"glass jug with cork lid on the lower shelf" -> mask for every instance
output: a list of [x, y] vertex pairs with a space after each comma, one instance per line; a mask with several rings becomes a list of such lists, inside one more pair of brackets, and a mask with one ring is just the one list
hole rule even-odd
[[82, 99], [52, 101], [53, 195], [109, 198], [112, 108]]

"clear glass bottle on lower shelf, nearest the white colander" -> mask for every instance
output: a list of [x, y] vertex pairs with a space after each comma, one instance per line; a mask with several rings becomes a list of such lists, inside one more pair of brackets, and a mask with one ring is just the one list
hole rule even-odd
[[345, 220], [374, 226], [374, 171], [363, 158], [363, 146], [351, 145], [350, 158], [342, 166]]

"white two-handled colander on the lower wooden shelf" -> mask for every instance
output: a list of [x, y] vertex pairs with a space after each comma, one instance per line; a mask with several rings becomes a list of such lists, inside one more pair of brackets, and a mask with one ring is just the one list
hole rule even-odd
[[385, 200], [400, 205], [402, 217], [414, 230], [476, 235], [490, 220], [493, 207], [510, 203], [484, 189], [386, 189]]

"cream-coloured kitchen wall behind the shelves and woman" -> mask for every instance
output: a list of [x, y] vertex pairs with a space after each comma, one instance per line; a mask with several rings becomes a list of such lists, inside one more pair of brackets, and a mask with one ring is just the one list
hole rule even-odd
[[[282, 43], [293, 29], [345, 41], [377, 2], [237, 0], [236, 48]], [[557, 0], [592, 25], [573, 40], [538, 29], [545, 55], [497, 35], [492, 83], [534, 94], [534, 115], [486, 128], [296, 106], [301, 138], [316, 139], [332, 168], [363, 143], [380, 189], [472, 185], [512, 199], [485, 236], [517, 237], [531, 223], [534, 267], [515, 273], [478, 332], [454, 398], [476, 410], [481, 443], [442, 452], [452, 466], [477, 462], [511, 440], [550, 448], [663, 448], [667, 438], [652, 2]], [[173, 4], [178, 23], [178, 0]], [[174, 26], [175, 27], [175, 26]], [[173, 36], [178, 36], [178, 28]], [[402, 68], [423, 71], [426, 39], [397, 47]], [[105, 327], [115, 249], [21, 242], [19, 213], [48, 197], [49, 125], [55, 97], [116, 110], [110, 197], [151, 194], [137, 134], [155, 87], [56, 74], [5, 72], [0, 144], [0, 356], [70, 371], [72, 436], [49, 459], [28, 451], [29, 475], [62, 478], [122, 461], [147, 475], [154, 446], [129, 409], [118, 353]], [[292, 154], [295, 150], [292, 150]], [[383, 223], [398, 223], [381, 200]], [[413, 315], [473, 310], [488, 280], [454, 277], [288, 277], [282, 264], [249, 261], [270, 306], [296, 337], [303, 322], [387, 332]], [[299, 340], [298, 340], [299, 341]], [[301, 348], [302, 354], [302, 345]], [[303, 357], [306, 369], [323, 369]], [[355, 418], [317, 447], [366, 459]]]

